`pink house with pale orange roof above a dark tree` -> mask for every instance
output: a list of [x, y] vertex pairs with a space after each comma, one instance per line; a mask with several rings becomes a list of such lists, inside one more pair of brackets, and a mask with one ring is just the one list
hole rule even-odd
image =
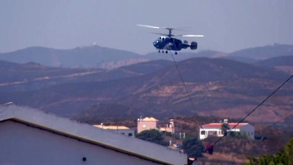
[[138, 118], [138, 133], [145, 131], [145, 130], [150, 130], [150, 129], [158, 129], [158, 122], [159, 120], [155, 119], [155, 118], [142, 118], [140, 116], [140, 118]]

